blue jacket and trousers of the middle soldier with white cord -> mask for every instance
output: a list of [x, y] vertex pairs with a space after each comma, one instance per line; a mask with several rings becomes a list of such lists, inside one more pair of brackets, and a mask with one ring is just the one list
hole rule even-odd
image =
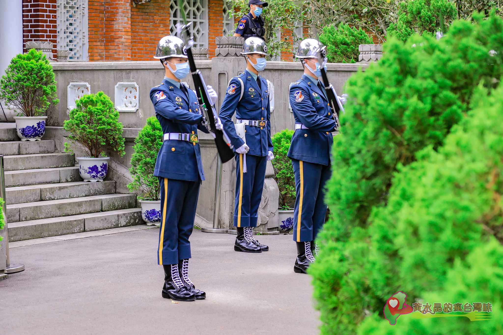
[[[241, 79], [244, 92], [241, 99]], [[260, 87], [257, 79], [260, 80]], [[257, 218], [264, 178], [266, 176], [267, 153], [273, 151], [271, 141], [271, 110], [266, 79], [246, 70], [231, 79], [225, 94], [219, 117], [234, 150], [244, 142], [237, 136], [232, 122], [236, 113], [237, 122], [245, 126], [245, 139], [249, 151], [246, 154], [246, 170], [243, 173], [243, 154], [236, 154], [236, 198], [234, 205], [234, 226], [257, 227]]]

